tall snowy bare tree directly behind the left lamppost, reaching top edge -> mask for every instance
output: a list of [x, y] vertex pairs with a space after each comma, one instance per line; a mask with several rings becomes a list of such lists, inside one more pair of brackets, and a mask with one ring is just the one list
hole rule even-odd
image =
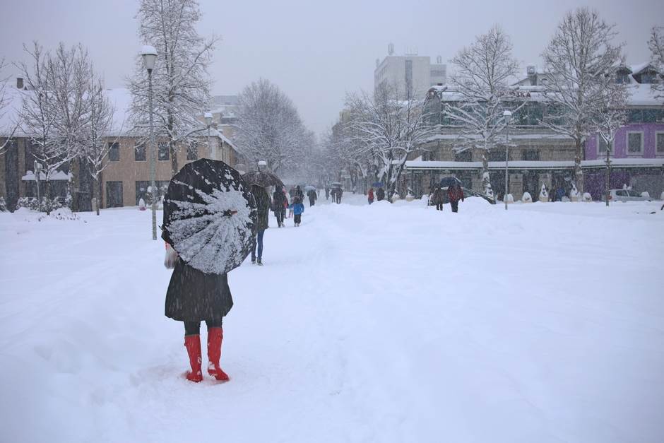
[[[153, 69], [155, 137], [168, 142], [171, 172], [178, 170], [177, 146], [194, 141], [201, 125], [198, 117], [208, 107], [211, 79], [208, 66], [219, 37], [198, 35], [201, 12], [196, 0], [141, 0], [136, 15], [139, 35], [157, 49]], [[132, 113], [137, 128], [148, 121], [148, 80], [140, 59], [129, 80]], [[143, 134], [145, 135], [145, 134]]]

